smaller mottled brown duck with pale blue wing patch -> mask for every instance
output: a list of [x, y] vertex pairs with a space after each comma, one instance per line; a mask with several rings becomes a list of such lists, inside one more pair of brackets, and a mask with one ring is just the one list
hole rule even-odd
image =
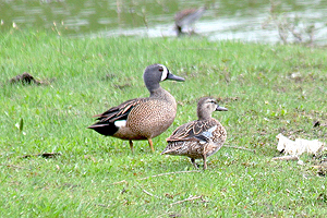
[[197, 104], [198, 120], [175, 129], [167, 138], [168, 145], [161, 155], [187, 156], [195, 168], [197, 168], [195, 159], [203, 159], [203, 168], [207, 169], [207, 157], [222, 147], [227, 136], [220, 122], [211, 118], [214, 111], [227, 111], [227, 109], [219, 107], [210, 97], [201, 98]]

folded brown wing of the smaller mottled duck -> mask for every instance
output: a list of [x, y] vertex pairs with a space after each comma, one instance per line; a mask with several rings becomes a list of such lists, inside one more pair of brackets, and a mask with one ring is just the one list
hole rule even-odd
[[204, 133], [206, 133], [210, 128], [215, 125], [217, 125], [215, 120], [192, 121], [175, 129], [175, 131], [173, 131], [172, 134], [166, 141], [175, 142], [204, 140]]

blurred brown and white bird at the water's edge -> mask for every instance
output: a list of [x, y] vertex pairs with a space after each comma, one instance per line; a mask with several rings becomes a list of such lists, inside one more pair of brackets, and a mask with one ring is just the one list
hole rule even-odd
[[206, 7], [201, 7], [198, 9], [185, 9], [178, 12], [174, 15], [174, 25], [178, 36], [182, 35], [182, 28], [187, 26], [191, 33], [191, 26], [204, 14]]

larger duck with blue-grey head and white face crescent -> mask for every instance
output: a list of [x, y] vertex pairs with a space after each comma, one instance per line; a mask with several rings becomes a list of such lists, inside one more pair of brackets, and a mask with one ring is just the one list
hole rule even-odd
[[112, 107], [95, 116], [99, 117], [99, 121], [88, 126], [102, 135], [130, 141], [132, 153], [133, 140], [147, 140], [154, 152], [152, 138], [165, 132], [174, 120], [175, 99], [159, 83], [165, 80], [184, 81], [162, 64], [147, 66], [143, 78], [150, 93], [148, 98], [135, 98]]

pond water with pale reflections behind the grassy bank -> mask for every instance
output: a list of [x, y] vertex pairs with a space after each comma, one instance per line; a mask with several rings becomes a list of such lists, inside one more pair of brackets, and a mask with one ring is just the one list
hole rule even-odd
[[202, 5], [208, 10], [195, 24], [195, 32], [210, 40], [327, 41], [327, 0], [0, 0], [0, 31], [171, 37], [177, 35], [175, 12]]

